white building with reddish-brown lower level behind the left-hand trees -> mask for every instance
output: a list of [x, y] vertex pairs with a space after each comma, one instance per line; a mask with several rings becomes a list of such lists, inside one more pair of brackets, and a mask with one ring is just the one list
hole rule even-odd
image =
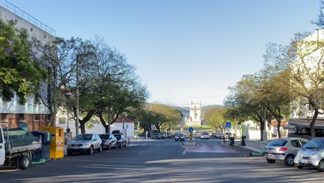
[[[28, 13], [5, 1], [0, 2], [0, 19], [15, 21], [17, 28], [25, 28], [29, 39], [37, 38], [43, 44], [55, 40], [55, 30], [49, 28]], [[42, 96], [47, 96], [46, 85]], [[8, 123], [9, 128], [22, 127], [28, 131], [38, 130], [48, 123], [48, 109], [35, 96], [29, 96], [24, 105], [20, 105], [17, 97], [11, 100], [0, 98], [0, 122]]]

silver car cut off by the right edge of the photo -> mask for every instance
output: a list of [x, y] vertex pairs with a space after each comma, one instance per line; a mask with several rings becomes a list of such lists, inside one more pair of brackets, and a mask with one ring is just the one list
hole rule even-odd
[[301, 148], [295, 159], [294, 164], [297, 168], [311, 167], [318, 171], [324, 171], [324, 138], [314, 138], [308, 141]]

